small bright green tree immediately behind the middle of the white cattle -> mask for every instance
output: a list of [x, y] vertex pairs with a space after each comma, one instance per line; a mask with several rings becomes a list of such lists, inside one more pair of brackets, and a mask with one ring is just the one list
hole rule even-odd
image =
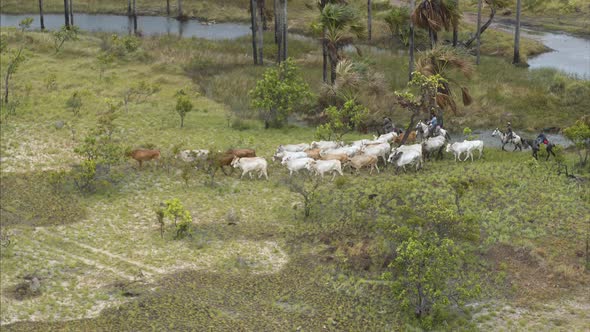
[[365, 106], [357, 104], [354, 99], [350, 99], [342, 107], [329, 106], [324, 113], [328, 122], [318, 126], [316, 137], [340, 140], [361, 124], [369, 111]]

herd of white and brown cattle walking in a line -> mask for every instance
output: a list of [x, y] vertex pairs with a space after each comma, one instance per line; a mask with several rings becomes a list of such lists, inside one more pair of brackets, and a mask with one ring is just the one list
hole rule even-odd
[[[415, 144], [399, 145], [401, 140], [402, 135], [392, 132], [373, 139], [354, 141], [349, 145], [336, 141], [279, 145], [272, 160], [284, 165], [290, 176], [301, 170], [307, 170], [321, 177], [331, 173], [333, 179], [336, 174], [343, 175], [342, 170], [346, 167], [350, 167], [357, 173], [362, 168], [369, 168], [370, 174], [374, 169], [379, 172], [380, 161], [383, 162], [383, 165], [387, 163], [395, 165], [396, 171], [400, 169], [405, 171], [406, 166], [414, 166], [418, 171], [422, 168], [424, 159], [429, 159], [433, 154], [442, 158], [445, 145], [446, 151], [454, 154], [455, 161], [461, 160], [463, 154], [465, 154], [463, 161], [469, 157], [473, 161], [473, 151], [479, 151], [480, 158], [483, 152], [483, 141], [466, 140], [448, 143], [448, 135], [446, 134], [428, 137], [416, 143], [415, 132], [412, 132], [406, 142]], [[135, 150], [131, 157], [137, 160], [141, 167], [143, 161], [159, 159], [160, 152], [158, 150]], [[198, 164], [210, 161], [212, 156], [208, 150], [184, 150], [178, 153], [176, 158], [187, 163]], [[258, 173], [259, 178], [264, 176], [268, 179], [268, 162], [265, 158], [256, 156], [253, 149], [230, 149], [215, 154], [213, 158], [216, 159], [216, 165], [222, 169], [224, 166], [241, 169], [241, 178], [246, 174], [252, 178], [253, 173]]]

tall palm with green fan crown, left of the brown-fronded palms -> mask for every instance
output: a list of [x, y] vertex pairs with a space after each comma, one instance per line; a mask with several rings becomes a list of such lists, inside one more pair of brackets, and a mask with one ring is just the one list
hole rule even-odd
[[[320, 25], [325, 32], [324, 42], [330, 58], [332, 84], [336, 81], [336, 66], [342, 59], [340, 51], [353, 41], [353, 36], [364, 36], [365, 27], [358, 13], [348, 5], [326, 4], [320, 16]], [[349, 32], [347, 34], [347, 32]]]

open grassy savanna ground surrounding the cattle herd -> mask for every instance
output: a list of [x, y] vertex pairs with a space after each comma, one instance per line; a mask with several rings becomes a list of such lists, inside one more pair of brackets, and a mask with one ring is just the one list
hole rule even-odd
[[[387, 229], [404, 217], [371, 204], [417, 213], [433, 205], [454, 209], [457, 180], [473, 184], [461, 207], [477, 216], [474, 273], [483, 292], [466, 311], [439, 317], [437, 327], [581, 331], [590, 324], [584, 296], [590, 280], [579, 255], [590, 214], [587, 170], [571, 180], [557, 174], [553, 161], [486, 149], [473, 163], [446, 156], [417, 173], [391, 167], [347, 173], [321, 184], [303, 221], [302, 199], [278, 164], [271, 164], [269, 181], [218, 173], [208, 186], [196, 171], [185, 183], [172, 158], [180, 144], [250, 147], [270, 162], [279, 144], [314, 140], [315, 128], [307, 126], [264, 130], [250, 118], [241, 120], [242, 130], [229, 126], [251, 114], [247, 92], [265, 69], [251, 64], [248, 38], [145, 38], [101, 75], [96, 56], [110, 36], [85, 34], [56, 53], [50, 33], [2, 35], [9, 48], [27, 41], [27, 60], [11, 81], [10, 97], [19, 104], [1, 123], [1, 225], [11, 239], [0, 262], [2, 330], [403, 330], [408, 319], [381, 275], [396, 247]], [[405, 56], [364, 50], [391, 89], [405, 86]], [[272, 58], [274, 46], [265, 52]], [[292, 41], [289, 52], [318, 91], [319, 47]], [[3, 68], [6, 61], [3, 55]], [[127, 160], [95, 193], [80, 194], [69, 177], [80, 162], [74, 147], [96, 126], [105, 100], [122, 101], [139, 81], [160, 90], [121, 107], [113, 137], [128, 147], [154, 146], [162, 160], [141, 170]], [[484, 57], [467, 84], [474, 104], [448, 117], [454, 132], [506, 119], [519, 131], [566, 127], [590, 98], [586, 82], [495, 57]], [[179, 89], [195, 105], [182, 129], [174, 112]], [[65, 105], [76, 91], [79, 116]], [[396, 124], [407, 122], [403, 109], [394, 115]], [[564, 153], [568, 165], [577, 158]], [[59, 170], [66, 172], [63, 182], [56, 180]], [[160, 237], [154, 208], [171, 198], [193, 216], [191, 237], [174, 240], [170, 221]], [[17, 286], [33, 275], [39, 294], [19, 297]]]

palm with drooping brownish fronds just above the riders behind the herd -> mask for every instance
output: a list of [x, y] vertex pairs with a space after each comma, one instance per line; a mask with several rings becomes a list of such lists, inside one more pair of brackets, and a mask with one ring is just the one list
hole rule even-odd
[[450, 77], [451, 70], [459, 70], [466, 78], [471, 78], [474, 70], [471, 62], [467, 59], [467, 55], [457, 48], [438, 46], [420, 54], [416, 61], [416, 71], [424, 76], [440, 75], [446, 80], [446, 82], [443, 82], [442, 87], [437, 89], [434, 100], [436, 106], [438, 106], [437, 118], [441, 125], [445, 109], [451, 110], [454, 114], [457, 113], [457, 104], [453, 100], [451, 83], [461, 89], [463, 105], [467, 106], [473, 101], [467, 87], [461, 86], [459, 81]]

